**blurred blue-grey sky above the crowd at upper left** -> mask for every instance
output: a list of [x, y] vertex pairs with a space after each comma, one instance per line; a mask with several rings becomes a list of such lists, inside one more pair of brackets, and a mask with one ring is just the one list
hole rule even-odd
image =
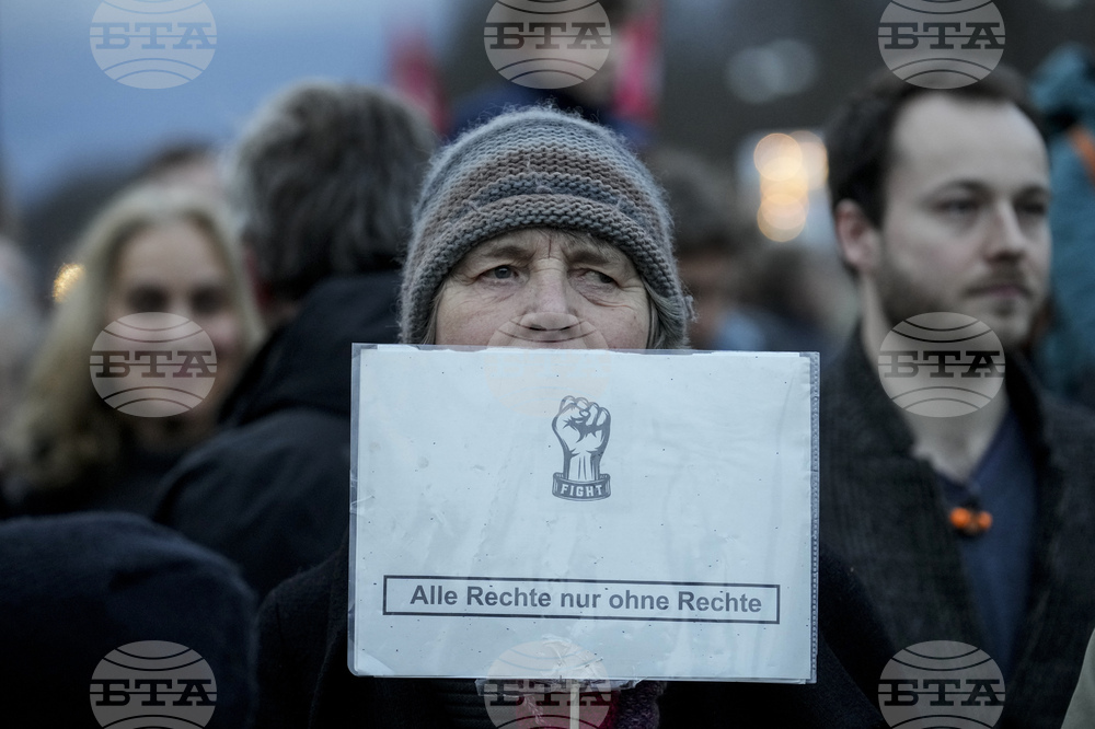
[[145, 90], [112, 81], [96, 65], [90, 32], [100, 0], [0, 0], [0, 150], [16, 204], [70, 171], [131, 164], [164, 141], [228, 141], [257, 103], [292, 79], [383, 82], [385, 30], [420, 20], [439, 42], [462, 3], [206, 4], [218, 32], [208, 69], [181, 86]]

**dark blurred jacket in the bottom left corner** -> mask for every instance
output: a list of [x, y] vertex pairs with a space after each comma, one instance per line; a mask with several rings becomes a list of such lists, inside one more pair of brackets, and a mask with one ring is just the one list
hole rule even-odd
[[[197, 652], [211, 670], [215, 695], [193, 694], [195, 705], [216, 703], [208, 728], [249, 727], [255, 606], [231, 563], [145, 518], [9, 520], [0, 524], [0, 725], [101, 726], [92, 679], [103, 659], [129, 644], [164, 641]], [[105, 701], [120, 702], [124, 686], [111, 688]], [[148, 699], [148, 688], [141, 691], [134, 706]]]

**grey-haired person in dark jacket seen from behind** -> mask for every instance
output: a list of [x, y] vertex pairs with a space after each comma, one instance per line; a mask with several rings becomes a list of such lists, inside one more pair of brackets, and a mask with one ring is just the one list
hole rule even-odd
[[155, 519], [234, 559], [263, 595], [338, 546], [349, 499], [350, 346], [396, 338], [399, 258], [436, 146], [391, 94], [309, 81], [275, 97], [234, 153], [230, 195], [277, 329], [168, 474]]

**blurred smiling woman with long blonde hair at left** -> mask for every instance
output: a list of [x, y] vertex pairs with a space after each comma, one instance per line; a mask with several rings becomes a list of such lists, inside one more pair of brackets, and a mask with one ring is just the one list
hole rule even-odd
[[[223, 215], [209, 196], [146, 185], [123, 193], [89, 227], [76, 251], [80, 278], [54, 312], [2, 441], [5, 496], [16, 510], [148, 514], [159, 478], [211, 432], [261, 334]], [[216, 349], [212, 391], [180, 415], [124, 415], [92, 384], [90, 355], [103, 327], [150, 312], [195, 322]]]

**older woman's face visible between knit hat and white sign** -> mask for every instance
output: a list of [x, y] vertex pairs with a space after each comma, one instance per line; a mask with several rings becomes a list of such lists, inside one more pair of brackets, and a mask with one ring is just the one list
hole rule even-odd
[[475, 246], [441, 286], [439, 345], [643, 349], [650, 308], [607, 243], [523, 230]]

